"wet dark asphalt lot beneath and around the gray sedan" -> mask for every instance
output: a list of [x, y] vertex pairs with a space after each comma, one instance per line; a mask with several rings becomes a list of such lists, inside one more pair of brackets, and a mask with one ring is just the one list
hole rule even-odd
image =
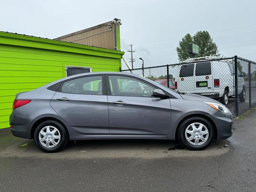
[[[234, 134], [203, 151], [178, 142], [70, 142], [43, 153], [33, 140], [0, 130], [0, 189], [5, 191], [256, 191], [256, 108], [234, 120]], [[20, 147], [22, 144], [26, 146]]]

